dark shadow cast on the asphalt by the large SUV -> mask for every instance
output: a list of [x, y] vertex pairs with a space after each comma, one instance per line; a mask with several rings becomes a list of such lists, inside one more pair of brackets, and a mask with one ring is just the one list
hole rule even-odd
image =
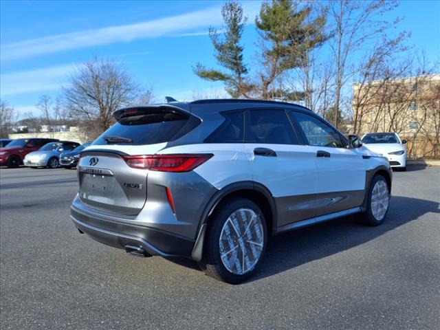
[[[440, 203], [434, 201], [400, 196], [391, 198], [386, 221], [377, 227], [362, 225], [358, 221], [359, 216], [354, 214], [274, 236], [267, 245], [259, 271], [247, 282], [354, 248], [400, 225], [416, 221], [428, 212], [440, 214]], [[167, 259], [178, 265], [199, 270], [197, 263], [190, 259]]]

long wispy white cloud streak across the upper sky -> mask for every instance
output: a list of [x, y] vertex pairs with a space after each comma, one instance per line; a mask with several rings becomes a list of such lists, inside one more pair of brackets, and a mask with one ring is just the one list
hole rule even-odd
[[[258, 12], [259, 1], [245, 1], [243, 7], [245, 14], [247, 14], [248, 17], [250, 17], [250, 21], [252, 21]], [[78, 50], [85, 47], [109, 45], [111, 43], [128, 43], [137, 39], [151, 39], [173, 35], [201, 35], [207, 34], [207, 32], [191, 33], [190, 31], [220, 24], [220, 7], [214, 6], [195, 12], [140, 23], [114, 25], [107, 28], [83, 30], [8, 43], [1, 46], [0, 58], [2, 62], [6, 62], [43, 54]]]

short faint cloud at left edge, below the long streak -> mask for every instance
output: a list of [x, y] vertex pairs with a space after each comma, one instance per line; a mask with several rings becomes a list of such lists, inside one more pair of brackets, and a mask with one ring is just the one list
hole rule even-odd
[[52, 91], [59, 89], [68, 78], [69, 72], [76, 67], [75, 63], [11, 72], [0, 76], [0, 96]]

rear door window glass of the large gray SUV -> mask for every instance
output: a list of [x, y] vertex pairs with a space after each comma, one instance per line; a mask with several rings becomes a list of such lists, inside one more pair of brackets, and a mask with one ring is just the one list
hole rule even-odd
[[298, 140], [283, 110], [251, 110], [246, 142], [298, 144]]

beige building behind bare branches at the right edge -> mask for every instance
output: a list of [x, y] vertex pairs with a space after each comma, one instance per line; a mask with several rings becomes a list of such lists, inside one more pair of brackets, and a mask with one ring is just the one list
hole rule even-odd
[[353, 131], [396, 132], [413, 158], [440, 158], [440, 75], [353, 84]]

